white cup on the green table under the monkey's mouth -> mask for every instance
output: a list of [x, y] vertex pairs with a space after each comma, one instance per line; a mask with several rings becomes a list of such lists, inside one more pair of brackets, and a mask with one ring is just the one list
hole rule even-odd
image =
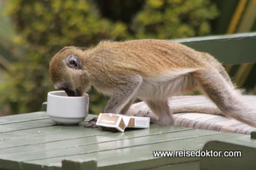
[[52, 91], [47, 96], [47, 114], [58, 124], [73, 125], [88, 116], [89, 95], [70, 97], [65, 91]]

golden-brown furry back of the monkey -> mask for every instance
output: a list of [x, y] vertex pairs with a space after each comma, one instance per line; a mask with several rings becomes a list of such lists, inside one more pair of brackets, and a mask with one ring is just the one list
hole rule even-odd
[[[143, 77], [157, 77], [161, 73], [204, 67], [202, 57], [205, 56], [192, 48], [166, 40], [105, 41], [88, 51], [86, 63], [97, 65], [102, 72], [134, 72]], [[104, 69], [105, 66], [108, 68]]]

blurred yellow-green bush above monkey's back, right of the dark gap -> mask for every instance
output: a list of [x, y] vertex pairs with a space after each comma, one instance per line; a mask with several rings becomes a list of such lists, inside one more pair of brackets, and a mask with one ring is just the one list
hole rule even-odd
[[137, 38], [180, 38], [206, 35], [217, 8], [204, 0], [148, 0], [132, 23]]

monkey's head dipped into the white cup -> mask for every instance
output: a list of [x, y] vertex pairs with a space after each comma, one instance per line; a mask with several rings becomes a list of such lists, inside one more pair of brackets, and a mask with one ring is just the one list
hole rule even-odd
[[65, 90], [68, 96], [81, 96], [90, 82], [86, 80], [82, 63], [82, 48], [66, 47], [51, 59], [49, 77], [55, 89]]

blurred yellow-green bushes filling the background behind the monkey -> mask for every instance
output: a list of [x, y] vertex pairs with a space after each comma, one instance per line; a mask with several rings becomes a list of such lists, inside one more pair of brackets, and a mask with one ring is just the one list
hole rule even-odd
[[[49, 60], [61, 48], [104, 39], [207, 35], [218, 9], [210, 0], [9, 0], [7, 13], [15, 23], [15, 42], [27, 53], [7, 72], [0, 102], [5, 111], [21, 113], [39, 111], [54, 90]], [[105, 97], [95, 90], [89, 94], [90, 113], [103, 111]]]

